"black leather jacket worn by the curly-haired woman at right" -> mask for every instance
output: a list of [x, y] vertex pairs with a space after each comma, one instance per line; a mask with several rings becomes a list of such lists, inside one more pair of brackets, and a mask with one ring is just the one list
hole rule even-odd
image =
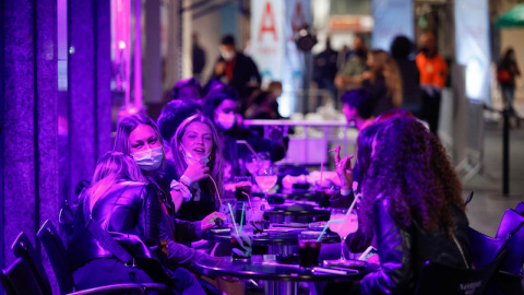
[[471, 267], [468, 222], [464, 211], [453, 208], [453, 234], [464, 252], [463, 258], [453, 238], [444, 233], [425, 232], [415, 222], [406, 228], [396, 222], [388, 212], [388, 202], [385, 198], [379, 198], [374, 205], [381, 269], [361, 280], [361, 294], [413, 294], [420, 269], [428, 260], [465, 268], [465, 258]]

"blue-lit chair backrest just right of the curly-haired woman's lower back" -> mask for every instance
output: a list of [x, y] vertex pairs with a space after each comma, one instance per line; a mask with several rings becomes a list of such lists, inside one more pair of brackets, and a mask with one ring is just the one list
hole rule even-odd
[[508, 237], [492, 238], [468, 227], [472, 245], [472, 262], [475, 268], [485, 268], [502, 252]]

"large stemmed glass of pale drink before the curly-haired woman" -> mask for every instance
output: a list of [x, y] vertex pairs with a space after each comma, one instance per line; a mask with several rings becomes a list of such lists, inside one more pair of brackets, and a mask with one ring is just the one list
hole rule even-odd
[[346, 241], [347, 235], [358, 229], [357, 211], [352, 210], [352, 212], [347, 214], [347, 208], [334, 208], [331, 210], [330, 229], [341, 236], [341, 259], [338, 261], [346, 260], [344, 257], [344, 243]]

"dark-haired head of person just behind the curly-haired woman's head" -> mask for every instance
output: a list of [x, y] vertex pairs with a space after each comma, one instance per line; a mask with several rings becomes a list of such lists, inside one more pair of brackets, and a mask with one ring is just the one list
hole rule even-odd
[[366, 88], [350, 90], [341, 96], [343, 103], [342, 113], [346, 116], [347, 122], [354, 122], [357, 130], [370, 126], [373, 120], [373, 102]]

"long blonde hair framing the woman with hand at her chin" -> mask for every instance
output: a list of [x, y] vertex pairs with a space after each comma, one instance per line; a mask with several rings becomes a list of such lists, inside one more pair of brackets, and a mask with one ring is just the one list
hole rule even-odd
[[[186, 133], [186, 129], [192, 122], [203, 122], [207, 125], [211, 129], [212, 138], [213, 138], [213, 149], [210, 155], [210, 163], [207, 164], [210, 167], [210, 176], [216, 182], [217, 189], [219, 189], [218, 193], [222, 196], [223, 187], [224, 187], [224, 157], [222, 156], [222, 148], [218, 141], [218, 132], [216, 131], [215, 126], [213, 122], [203, 115], [193, 115], [186, 120], [178, 127], [177, 132], [171, 138], [171, 153], [172, 153], [172, 161], [175, 165], [175, 170], [177, 176], [180, 177], [188, 168], [188, 164], [186, 164], [186, 160], [183, 158], [182, 152], [182, 137]], [[210, 179], [203, 179], [204, 182], [209, 185], [210, 191], [213, 191], [213, 185]], [[215, 200], [215, 198], [214, 198]], [[215, 200], [216, 201], [216, 200]], [[215, 202], [216, 203], [216, 202]]]

